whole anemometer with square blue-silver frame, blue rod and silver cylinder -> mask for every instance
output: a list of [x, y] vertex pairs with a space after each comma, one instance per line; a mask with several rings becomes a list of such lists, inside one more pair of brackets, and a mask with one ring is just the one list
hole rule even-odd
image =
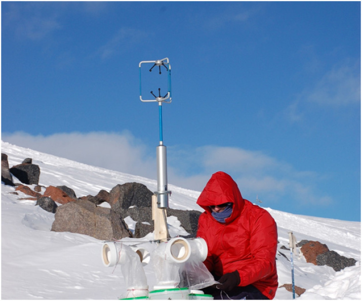
[[[141, 65], [144, 63], [152, 63], [153, 66], [149, 69], [151, 72], [153, 67], [158, 66], [159, 74], [162, 73], [161, 67], [166, 68], [168, 91], [165, 96], [161, 96], [160, 88], [158, 88], [158, 96], [154, 95], [151, 91], [151, 95], [154, 99], [142, 99], [142, 80], [141, 80]], [[167, 154], [166, 146], [163, 142], [163, 124], [162, 124], [162, 103], [171, 103], [171, 65], [168, 58], [155, 61], [142, 61], [138, 65], [140, 74], [140, 100], [142, 102], [157, 102], [158, 103], [158, 119], [159, 119], [159, 145], [156, 147], [157, 157], [157, 191], [154, 194], [157, 195], [157, 207], [168, 208], [169, 207], [169, 195], [171, 191], [167, 189]]]

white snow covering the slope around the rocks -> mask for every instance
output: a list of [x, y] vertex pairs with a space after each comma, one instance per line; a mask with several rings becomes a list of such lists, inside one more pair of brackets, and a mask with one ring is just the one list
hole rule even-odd
[[[2, 142], [2, 153], [8, 155], [9, 166], [32, 158], [41, 168], [39, 185], [66, 185], [77, 197], [96, 195], [101, 189], [110, 191], [117, 184], [138, 182], [151, 191], [156, 180], [90, 166], [38, 151]], [[156, 174], [156, 171], [155, 171]], [[20, 182], [14, 177], [15, 182]], [[32, 189], [34, 185], [29, 185]], [[52, 232], [54, 214], [35, 206], [35, 201], [21, 200], [26, 195], [2, 183], [2, 299], [118, 299], [125, 297], [126, 284], [120, 266], [106, 268], [101, 260], [103, 242], [93, 237], [69, 232]], [[44, 188], [45, 189], [45, 188]], [[169, 185], [170, 208], [199, 210], [200, 192]], [[44, 192], [44, 191], [43, 191]], [[107, 204], [104, 204], [106, 206]], [[279, 286], [292, 283], [288, 232], [297, 241], [317, 240], [346, 257], [353, 257], [353, 267], [335, 272], [331, 267], [306, 263], [294, 255], [295, 285], [305, 288], [299, 299], [361, 299], [360, 222], [300, 216], [265, 208], [278, 227], [277, 270]], [[134, 230], [135, 222], [126, 223]], [[168, 218], [172, 237], [187, 235], [175, 217]], [[154, 248], [153, 234], [142, 239], [123, 239], [126, 244], [142, 243]], [[282, 256], [280, 253], [286, 255]], [[145, 266], [149, 290], [155, 285], [152, 265]], [[278, 288], [275, 299], [292, 299], [292, 293]]]

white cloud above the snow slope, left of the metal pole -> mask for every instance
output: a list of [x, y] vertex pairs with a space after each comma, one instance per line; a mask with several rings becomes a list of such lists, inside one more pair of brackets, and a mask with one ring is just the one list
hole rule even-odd
[[130, 133], [93, 132], [31, 136], [3, 134], [3, 141], [74, 161], [155, 178], [155, 156]]

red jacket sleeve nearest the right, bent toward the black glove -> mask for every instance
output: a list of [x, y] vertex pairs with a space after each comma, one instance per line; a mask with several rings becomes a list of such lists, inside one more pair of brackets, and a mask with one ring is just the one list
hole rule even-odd
[[277, 248], [277, 228], [269, 212], [263, 211], [250, 225], [250, 262], [237, 270], [240, 276], [239, 286], [252, 284], [266, 276], [274, 269]]

